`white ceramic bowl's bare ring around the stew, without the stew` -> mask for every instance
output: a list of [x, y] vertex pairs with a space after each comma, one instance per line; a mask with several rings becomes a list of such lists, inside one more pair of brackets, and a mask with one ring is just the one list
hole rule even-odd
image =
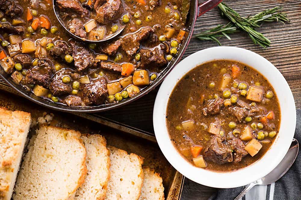
[[[180, 155], [172, 144], [166, 127], [165, 117], [168, 99], [179, 79], [200, 64], [221, 59], [239, 61], [261, 72], [274, 87], [281, 110], [280, 130], [271, 148], [255, 163], [234, 172], [213, 172], [193, 166]], [[247, 185], [264, 177], [280, 163], [294, 136], [296, 107], [289, 85], [272, 63], [246, 49], [220, 46], [198, 51], [175, 66], [158, 91], [154, 105], [153, 122], [160, 149], [175, 169], [199, 184], [217, 188], [231, 188]]]

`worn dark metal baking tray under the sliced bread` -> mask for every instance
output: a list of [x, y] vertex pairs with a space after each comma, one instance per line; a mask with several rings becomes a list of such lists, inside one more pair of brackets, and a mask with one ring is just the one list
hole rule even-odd
[[[79, 130], [81, 133], [98, 133], [107, 139], [107, 144], [144, 157], [144, 165], [159, 172], [163, 179], [164, 195], [168, 200], [181, 198], [184, 176], [165, 159], [155, 137], [151, 133], [126, 126], [95, 115], [58, 112], [39, 106], [17, 96], [17, 93], [0, 80], [0, 106], [11, 110], [30, 112], [37, 119], [43, 113], [53, 113], [51, 125]], [[32, 130], [34, 131], [34, 130]]]

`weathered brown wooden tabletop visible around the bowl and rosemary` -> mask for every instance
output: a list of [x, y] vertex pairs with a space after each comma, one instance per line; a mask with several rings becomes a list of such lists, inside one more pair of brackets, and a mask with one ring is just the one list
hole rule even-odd
[[[244, 33], [231, 35], [231, 41], [222, 38], [220, 41], [225, 46], [237, 46], [254, 51], [267, 58], [283, 74], [296, 102], [297, 109], [301, 108], [301, 0], [228, 0], [226, 2], [231, 8], [236, 10], [242, 16], [249, 16], [258, 13], [266, 8], [282, 6], [284, 12], [288, 14], [289, 24], [280, 24], [277, 22], [265, 23], [258, 28], [262, 34], [272, 41], [271, 47], [263, 49], [254, 45], [250, 38]], [[218, 24], [224, 24], [227, 20], [220, 17], [218, 9], [213, 9], [197, 19], [194, 34], [200, 31], [208, 30]], [[212, 41], [199, 41], [192, 38], [183, 58], [205, 49], [217, 46]], [[122, 108], [110, 110], [101, 115], [121, 123], [127, 124], [141, 130], [154, 133], [152, 124], [153, 106], [158, 88], [131, 105]], [[281, 95], [281, 94], [278, 94]], [[185, 179], [185, 185], [182, 193], [183, 200], [208, 199], [216, 191], [215, 188], [209, 188], [188, 179]]]

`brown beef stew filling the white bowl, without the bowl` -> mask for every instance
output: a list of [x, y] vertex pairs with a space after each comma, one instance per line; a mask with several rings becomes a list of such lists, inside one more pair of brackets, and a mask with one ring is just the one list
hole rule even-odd
[[262, 74], [230, 60], [189, 71], [169, 97], [170, 138], [194, 166], [227, 172], [259, 160], [280, 126], [275, 91]]

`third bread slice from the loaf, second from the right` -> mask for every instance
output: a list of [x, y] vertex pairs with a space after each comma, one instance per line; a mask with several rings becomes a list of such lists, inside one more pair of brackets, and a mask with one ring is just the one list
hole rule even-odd
[[143, 158], [115, 147], [109, 149], [111, 178], [106, 199], [138, 200], [143, 184]]

